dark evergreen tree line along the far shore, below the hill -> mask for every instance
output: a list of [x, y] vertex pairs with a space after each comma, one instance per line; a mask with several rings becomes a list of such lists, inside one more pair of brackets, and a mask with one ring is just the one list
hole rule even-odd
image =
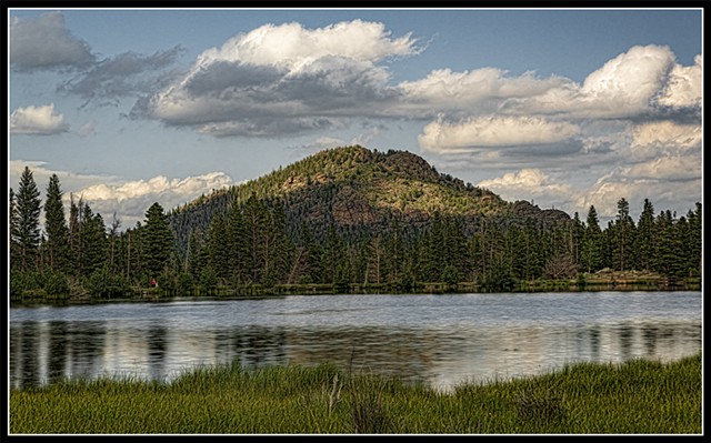
[[701, 275], [701, 203], [687, 214], [655, 213], [644, 200], [637, 221], [629, 202], [600, 225], [594, 205], [582, 221], [542, 225], [532, 219], [481, 217], [472, 230], [455, 214], [434, 212], [424, 224], [390, 218], [382, 229], [333, 220], [289, 220], [282, 198], [224, 202], [204, 228], [177, 241], [159, 203], [143, 222], [121, 231], [89, 202], [70, 195], [69, 217], [57, 175], [43, 200], [26, 168], [10, 189], [10, 296], [118, 298], [157, 282], [162, 293], [209, 293], [277, 285], [351, 285], [413, 291], [418, 284], [473, 282], [513, 290], [518, 282], [574, 279], [603, 269], [649, 271], [668, 278]]

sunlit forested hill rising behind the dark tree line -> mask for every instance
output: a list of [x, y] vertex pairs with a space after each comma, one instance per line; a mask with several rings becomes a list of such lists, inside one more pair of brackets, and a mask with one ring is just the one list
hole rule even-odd
[[228, 217], [252, 197], [270, 207], [278, 202], [292, 236], [308, 226], [317, 239], [330, 228], [342, 234], [383, 232], [393, 223], [418, 229], [435, 214], [461, 219], [469, 232], [478, 229], [482, 217], [501, 223], [570, 220], [562, 211], [507, 202], [487, 189], [439, 173], [413, 153], [353, 145], [321, 151], [171, 211], [179, 251], [184, 253], [191, 233], [204, 233], [216, 214]]

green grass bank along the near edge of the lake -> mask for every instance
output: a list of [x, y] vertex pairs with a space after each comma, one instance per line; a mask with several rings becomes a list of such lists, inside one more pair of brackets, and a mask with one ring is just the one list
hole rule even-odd
[[579, 363], [441, 393], [331, 365], [200, 368], [172, 382], [10, 392], [11, 434], [700, 434], [701, 354]]

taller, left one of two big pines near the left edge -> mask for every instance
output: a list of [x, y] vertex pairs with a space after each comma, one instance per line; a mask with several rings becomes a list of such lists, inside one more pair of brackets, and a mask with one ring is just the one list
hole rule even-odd
[[19, 268], [29, 271], [37, 268], [40, 244], [40, 211], [42, 209], [32, 171], [24, 167], [16, 195], [17, 225], [13, 233], [18, 244]]

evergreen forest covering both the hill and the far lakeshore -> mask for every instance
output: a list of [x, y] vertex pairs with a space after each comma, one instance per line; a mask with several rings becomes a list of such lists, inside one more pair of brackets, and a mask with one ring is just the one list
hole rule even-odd
[[[700, 283], [701, 203], [685, 214], [618, 201], [601, 225], [441, 174], [405, 151], [327, 150], [122, 229], [52, 175], [9, 192], [10, 299], [517, 291], [584, 288], [605, 272]], [[42, 219], [43, 218], [43, 219]]]

